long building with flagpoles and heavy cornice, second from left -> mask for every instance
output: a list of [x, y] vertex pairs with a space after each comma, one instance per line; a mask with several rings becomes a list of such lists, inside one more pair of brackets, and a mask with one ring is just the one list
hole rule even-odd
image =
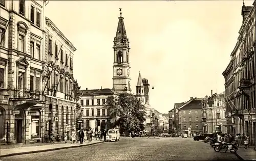
[[[45, 60], [43, 69], [43, 91], [46, 95], [44, 111], [45, 137], [53, 129], [55, 135], [76, 129], [76, 85], [73, 58], [76, 48], [46, 17]], [[33, 42], [31, 41], [31, 46]]]

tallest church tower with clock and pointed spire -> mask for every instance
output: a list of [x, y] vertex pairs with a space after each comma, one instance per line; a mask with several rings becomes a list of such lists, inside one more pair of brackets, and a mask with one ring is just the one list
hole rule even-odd
[[129, 63], [129, 39], [126, 36], [122, 12], [118, 17], [116, 37], [114, 38], [113, 89], [118, 92], [131, 93], [131, 77]]

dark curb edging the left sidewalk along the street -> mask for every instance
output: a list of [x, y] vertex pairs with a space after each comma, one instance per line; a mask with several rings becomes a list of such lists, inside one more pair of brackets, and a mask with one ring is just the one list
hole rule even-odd
[[11, 153], [11, 154], [5, 154], [5, 155], [0, 155], [1, 157], [7, 157], [7, 156], [14, 156], [14, 155], [23, 155], [23, 154], [32, 154], [32, 153], [40, 153], [40, 152], [47, 152], [47, 151], [55, 151], [55, 150], [61, 150], [61, 149], [70, 149], [70, 148], [78, 148], [78, 147], [83, 147], [83, 146], [90, 146], [90, 145], [95, 145], [99, 143], [104, 143], [103, 142], [96, 142], [92, 144], [82, 144], [82, 145], [76, 145], [76, 146], [68, 146], [68, 147], [59, 147], [59, 148], [53, 148], [53, 149], [44, 149], [44, 150], [35, 150], [35, 151], [26, 151], [26, 152], [19, 152], [19, 153]]

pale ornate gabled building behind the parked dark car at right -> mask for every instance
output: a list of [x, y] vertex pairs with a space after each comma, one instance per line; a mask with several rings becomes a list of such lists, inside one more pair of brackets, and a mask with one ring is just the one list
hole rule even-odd
[[205, 96], [202, 99], [203, 132], [222, 131], [226, 133], [225, 110], [224, 94], [212, 94], [211, 90], [211, 96]]

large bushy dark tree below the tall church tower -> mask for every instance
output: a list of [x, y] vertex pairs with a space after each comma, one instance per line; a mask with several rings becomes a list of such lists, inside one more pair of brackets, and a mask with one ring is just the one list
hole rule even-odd
[[106, 99], [105, 108], [109, 110], [114, 127], [119, 126], [120, 132], [126, 130], [141, 131], [144, 129], [145, 106], [133, 94], [120, 93]]

